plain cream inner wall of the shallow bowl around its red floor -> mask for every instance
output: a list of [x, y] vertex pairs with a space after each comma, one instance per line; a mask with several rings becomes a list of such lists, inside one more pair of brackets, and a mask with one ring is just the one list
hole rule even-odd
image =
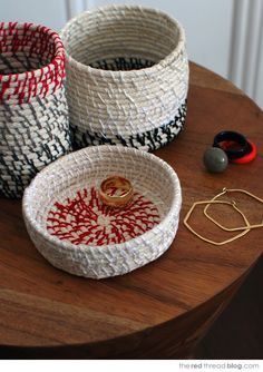
[[[56, 209], [55, 205], [67, 205], [69, 199], [76, 198], [76, 195], [84, 195], [85, 189], [98, 189], [101, 180], [111, 175], [121, 175], [128, 178], [133, 184], [135, 194], [150, 202], [157, 214], [153, 227], [169, 212], [175, 195], [175, 185], [167, 169], [163, 166], [156, 163], [153, 164], [149, 158], [136, 158], [129, 154], [116, 156], [105, 153], [96, 158], [80, 156], [80, 153], [78, 155], [78, 158], [70, 155], [72, 161], [67, 161], [67, 158], [69, 158], [67, 156], [64, 158], [65, 164], [62, 164], [64, 161], [61, 160], [64, 159], [61, 159], [49, 166], [40, 174], [40, 177], [36, 177], [30, 187], [30, 193], [27, 197], [28, 200], [30, 199], [29, 213], [33, 222], [45, 231], [48, 231], [50, 235], [55, 234], [48, 229], [48, 226], [50, 226], [48, 219], [50, 211]], [[58, 165], [58, 169], [56, 169], [56, 165]], [[136, 200], [135, 203], [137, 203]], [[140, 217], [142, 221], [144, 219], [144, 216], [139, 216], [137, 218], [138, 222]], [[119, 218], [124, 218], [124, 223], [126, 222], [125, 214], [123, 216], [120, 214]], [[82, 226], [81, 228], [86, 233], [85, 227]], [[143, 233], [143, 231], [142, 233], [140, 231], [138, 232], [138, 234]], [[128, 235], [125, 241], [132, 237], [132, 235]], [[71, 237], [67, 238], [66, 235], [62, 239], [74, 243]], [[82, 242], [80, 243], [82, 244]], [[114, 243], [119, 242], [114, 241]]]

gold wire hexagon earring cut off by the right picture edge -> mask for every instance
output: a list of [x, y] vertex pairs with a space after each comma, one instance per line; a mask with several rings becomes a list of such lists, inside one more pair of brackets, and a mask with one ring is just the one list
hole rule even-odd
[[[222, 190], [220, 194], [217, 194], [216, 196], [214, 196], [214, 197], [212, 198], [212, 200], [216, 200], [220, 196], [225, 195], [226, 193], [243, 193], [243, 194], [246, 194], [246, 195], [249, 195], [250, 197], [252, 197], [253, 199], [255, 199], [255, 200], [257, 200], [257, 202], [260, 202], [260, 203], [263, 204], [263, 199], [261, 199], [259, 196], [255, 196], [254, 194], [252, 194], [252, 193], [250, 193], [250, 192], [246, 192], [245, 189], [242, 189], [242, 188], [225, 188], [225, 187], [223, 188], [223, 190]], [[233, 200], [232, 203], [235, 204], [234, 200]], [[236, 205], [236, 204], [235, 204], [235, 205]], [[225, 232], [238, 232], [238, 231], [245, 231], [245, 229], [247, 229], [247, 227], [250, 227], [250, 229], [251, 229], [251, 228], [263, 227], [263, 221], [262, 221], [261, 224], [253, 224], [253, 225], [249, 224], [249, 226], [246, 225], [246, 226], [240, 226], [240, 227], [225, 227], [225, 226], [223, 226], [222, 224], [220, 224], [216, 219], [214, 219], [214, 218], [207, 213], [208, 208], [210, 208], [210, 204], [207, 204], [206, 207], [204, 208], [204, 215], [205, 215], [210, 221], [212, 221], [215, 225], [217, 225], [218, 227], [221, 227], [222, 229], [224, 229]], [[236, 209], [237, 209], [237, 208], [236, 208]]]

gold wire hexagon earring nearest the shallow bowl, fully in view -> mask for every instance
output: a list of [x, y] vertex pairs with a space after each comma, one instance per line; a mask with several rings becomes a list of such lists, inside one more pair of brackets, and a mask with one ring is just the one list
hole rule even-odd
[[[194, 208], [197, 206], [197, 205], [203, 205], [203, 204], [226, 204], [226, 205], [230, 205], [232, 206], [236, 212], [238, 212], [241, 214], [241, 216], [243, 217], [245, 224], [246, 224], [246, 229], [242, 231], [240, 234], [226, 239], [226, 241], [223, 241], [223, 242], [215, 242], [215, 241], [212, 241], [212, 239], [208, 239], [204, 236], [202, 236], [201, 234], [198, 234], [189, 224], [188, 224], [188, 219], [194, 211]], [[201, 238], [202, 241], [204, 242], [207, 242], [207, 243], [211, 243], [211, 244], [214, 244], [214, 245], [224, 245], [226, 243], [231, 243], [235, 239], [237, 239], [238, 237], [247, 234], [250, 232], [250, 223], [247, 221], [247, 218], [245, 217], [245, 215], [243, 214], [243, 212], [241, 212], [235, 203], [231, 203], [231, 202], [225, 202], [225, 200], [202, 200], [202, 202], [195, 202], [192, 207], [189, 208], [188, 213], [186, 214], [185, 218], [184, 218], [184, 225], [194, 234], [196, 235], [198, 238]]]

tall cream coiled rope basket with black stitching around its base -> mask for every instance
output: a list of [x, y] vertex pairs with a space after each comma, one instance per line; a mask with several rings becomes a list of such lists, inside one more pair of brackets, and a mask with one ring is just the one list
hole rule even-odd
[[61, 32], [70, 124], [78, 147], [121, 144], [154, 150], [185, 124], [185, 33], [167, 14], [109, 6], [81, 13]]

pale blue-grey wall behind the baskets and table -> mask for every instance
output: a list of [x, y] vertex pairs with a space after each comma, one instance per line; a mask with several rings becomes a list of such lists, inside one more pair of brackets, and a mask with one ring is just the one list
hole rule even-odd
[[158, 8], [184, 26], [191, 60], [232, 80], [263, 108], [263, 0], [1, 0], [1, 21], [59, 31], [78, 12], [109, 3]]

